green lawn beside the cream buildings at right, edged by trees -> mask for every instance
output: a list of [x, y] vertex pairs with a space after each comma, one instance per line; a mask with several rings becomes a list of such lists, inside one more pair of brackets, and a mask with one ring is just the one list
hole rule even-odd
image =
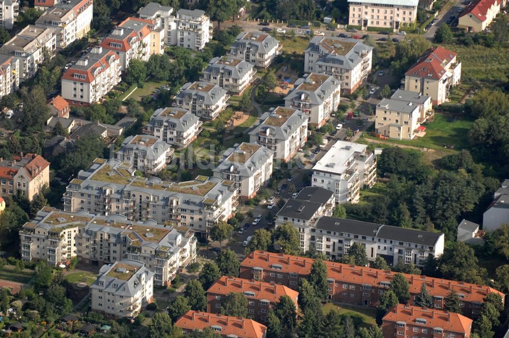
[[[456, 122], [448, 122], [448, 117], [435, 114], [435, 121], [423, 124], [426, 127], [426, 135], [416, 137], [413, 140], [385, 140], [387, 143], [407, 145], [417, 148], [444, 149], [444, 145], [454, 146], [455, 149], [464, 149], [468, 146], [468, 131], [472, 128], [472, 120], [458, 119]], [[366, 138], [376, 138], [364, 134]], [[380, 138], [377, 138], [380, 139]]]

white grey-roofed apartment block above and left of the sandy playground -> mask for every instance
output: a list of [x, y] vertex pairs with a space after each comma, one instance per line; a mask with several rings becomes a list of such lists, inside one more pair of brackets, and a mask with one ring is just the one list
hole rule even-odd
[[230, 47], [230, 54], [261, 68], [267, 68], [281, 52], [279, 41], [262, 32], [242, 32]]

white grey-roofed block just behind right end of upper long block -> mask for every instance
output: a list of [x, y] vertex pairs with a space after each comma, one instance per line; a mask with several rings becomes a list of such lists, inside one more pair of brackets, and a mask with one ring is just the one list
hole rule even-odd
[[237, 184], [237, 193], [253, 198], [272, 177], [272, 151], [256, 143], [241, 143], [229, 148], [214, 168], [214, 176]]

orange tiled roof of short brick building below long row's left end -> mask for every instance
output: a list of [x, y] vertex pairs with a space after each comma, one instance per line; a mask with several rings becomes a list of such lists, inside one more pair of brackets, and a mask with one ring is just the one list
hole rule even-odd
[[270, 302], [277, 302], [281, 296], [289, 296], [292, 300], [297, 299], [299, 293], [284, 285], [266, 283], [265, 281], [249, 280], [222, 276], [207, 290], [207, 293], [227, 295], [230, 292], [252, 292], [252, 296], [258, 300], [266, 299]]

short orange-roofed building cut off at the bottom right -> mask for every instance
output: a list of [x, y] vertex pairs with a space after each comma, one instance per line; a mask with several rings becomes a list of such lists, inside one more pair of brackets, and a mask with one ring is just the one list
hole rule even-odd
[[465, 316], [418, 306], [398, 304], [383, 318], [384, 337], [468, 338], [472, 320]]

